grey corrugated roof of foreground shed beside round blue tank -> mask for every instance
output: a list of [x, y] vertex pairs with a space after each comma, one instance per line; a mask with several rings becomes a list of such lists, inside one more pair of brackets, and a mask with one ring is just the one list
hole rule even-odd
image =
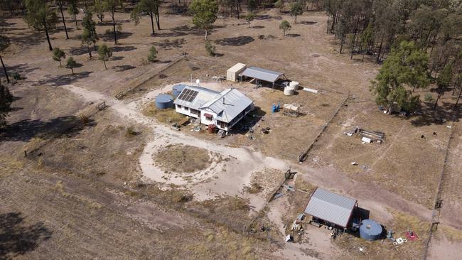
[[318, 219], [347, 227], [357, 200], [317, 188], [311, 195], [305, 213]]

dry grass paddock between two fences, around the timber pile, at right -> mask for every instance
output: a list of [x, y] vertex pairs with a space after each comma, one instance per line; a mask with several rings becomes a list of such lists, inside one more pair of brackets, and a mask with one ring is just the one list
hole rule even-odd
[[[362, 143], [358, 134], [343, 134], [355, 126], [385, 132], [385, 142]], [[375, 104], [348, 103], [315, 143], [308, 160], [431, 208], [448, 134], [445, 125], [416, 127], [410, 120], [381, 113]]]

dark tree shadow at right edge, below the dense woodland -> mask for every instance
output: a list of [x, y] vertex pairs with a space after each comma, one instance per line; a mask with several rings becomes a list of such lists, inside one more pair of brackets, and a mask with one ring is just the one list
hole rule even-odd
[[409, 119], [411, 124], [414, 126], [429, 126], [431, 124], [449, 125], [452, 120], [459, 121], [462, 117], [462, 104], [454, 107], [453, 102], [441, 102], [440, 99], [436, 109], [433, 109], [433, 106], [433, 102], [423, 102], [420, 112], [417, 112]]

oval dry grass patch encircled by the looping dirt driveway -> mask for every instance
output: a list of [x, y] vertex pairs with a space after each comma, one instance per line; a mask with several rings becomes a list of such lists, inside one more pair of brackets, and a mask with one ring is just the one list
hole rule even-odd
[[183, 144], [169, 144], [155, 153], [154, 162], [166, 172], [193, 173], [212, 163], [207, 150]]

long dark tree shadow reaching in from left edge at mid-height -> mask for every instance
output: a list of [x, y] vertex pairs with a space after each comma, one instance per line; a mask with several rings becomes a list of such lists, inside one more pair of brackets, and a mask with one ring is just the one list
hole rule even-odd
[[48, 121], [25, 119], [8, 124], [0, 129], [1, 141], [29, 141], [34, 137], [53, 139], [61, 134], [77, 134], [85, 126], [95, 126], [92, 119], [83, 124], [82, 119], [75, 116], [57, 117]]

